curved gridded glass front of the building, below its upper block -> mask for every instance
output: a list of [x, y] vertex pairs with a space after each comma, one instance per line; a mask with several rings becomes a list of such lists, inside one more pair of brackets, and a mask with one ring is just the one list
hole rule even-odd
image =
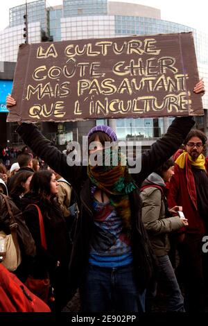
[[[128, 6], [128, 4], [126, 4]], [[132, 14], [133, 12], [130, 12]], [[208, 35], [196, 31], [196, 29], [174, 22], [164, 21], [151, 17], [136, 17], [133, 15], [76, 15], [61, 19], [61, 39], [79, 40], [85, 38], [99, 37], [121, 37], [123, 35], [153, 35], [158, 33], [182, 33], [193, 32], [196, 45], [196, 56], [198, 60], [199, 75], [203, 76], [205, 85], [208, 85]], [[205, 109], [208, 109], [208, 94], [202, 98]], [[196, 120], [204, 128], [204, 118], [197, 117]], [[116, 133], [119, 139], [137, 137], [139, 140], [160, 137], [166, 132], [172, 118], [159, 119], [116, 119]], [[97, 123], [105, 123], [105, 119]], [[114, 125], [115, 128], [115, 125]], [[149, 141], [151, 144], [152, 141]]]

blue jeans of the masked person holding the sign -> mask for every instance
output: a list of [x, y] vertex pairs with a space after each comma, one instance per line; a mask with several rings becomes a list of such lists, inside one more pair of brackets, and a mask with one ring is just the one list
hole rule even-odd
[[80, 286], [80, 298], [83, 312], [144, 312], [145, 291], [139, 293], [131, 265], [89, 265]]

